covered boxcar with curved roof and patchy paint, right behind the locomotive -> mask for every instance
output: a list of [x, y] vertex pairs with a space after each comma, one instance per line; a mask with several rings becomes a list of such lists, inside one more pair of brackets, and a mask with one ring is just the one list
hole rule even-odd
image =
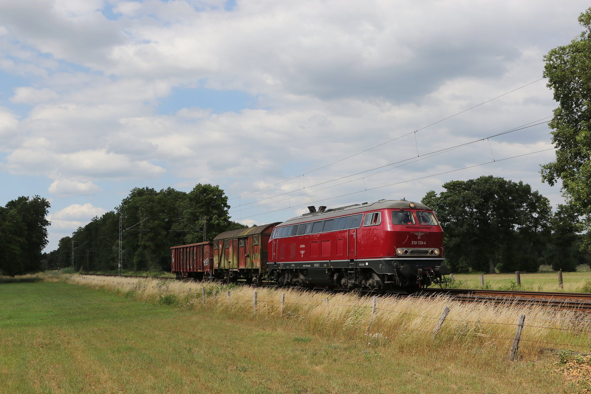
[[267, 273], [267, 248], [271, 223], [230, 230], [213, 239], [213, 269], [216, 278], [228, 282], [244, 280], [258, 285]]

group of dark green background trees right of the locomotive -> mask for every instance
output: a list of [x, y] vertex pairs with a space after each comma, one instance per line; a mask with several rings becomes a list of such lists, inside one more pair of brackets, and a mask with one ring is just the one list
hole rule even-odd
[[443, 184], [422, 202], [444, 232], [444, 256], [452, 272], [536, 272], [540, 265], [575, 271], [591, 263], [576, 210], [550, 201], [530, 185], [483, 176]]

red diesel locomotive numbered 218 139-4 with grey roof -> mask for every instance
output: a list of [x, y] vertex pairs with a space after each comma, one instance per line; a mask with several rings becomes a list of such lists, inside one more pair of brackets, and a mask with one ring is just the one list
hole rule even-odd
[[417, 288], [447, 273], [443, 231], [423, 204], [309, 209], [272, 232], [268, 271], [278, 285]]

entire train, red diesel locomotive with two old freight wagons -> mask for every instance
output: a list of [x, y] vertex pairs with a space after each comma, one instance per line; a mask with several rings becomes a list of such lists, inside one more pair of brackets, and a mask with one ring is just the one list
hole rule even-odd
[[429, 207], [379, 200], [231, 230], [213, 242], [173, 246], [177, 278], [316, 288], [444, 286], [443, 231]]

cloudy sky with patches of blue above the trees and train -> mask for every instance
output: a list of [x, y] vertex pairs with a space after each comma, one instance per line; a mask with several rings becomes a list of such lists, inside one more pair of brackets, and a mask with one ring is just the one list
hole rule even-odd
[[0, 204], [50, 200], [46, 250], [134, 187], [219, 185], [249, 225], [480, 175], [556, 206], [543, 56], [587, 6], [3, 0]]

